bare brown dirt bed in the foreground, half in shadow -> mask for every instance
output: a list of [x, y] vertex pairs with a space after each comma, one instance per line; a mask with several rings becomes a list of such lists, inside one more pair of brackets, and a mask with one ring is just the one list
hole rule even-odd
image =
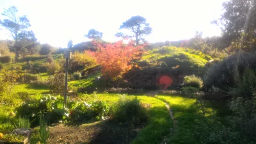
[[56, 125], [50, 127], [49, 143], [65, 144], [125, 144], [130, 143], [145, 127], [125, 126], [112, 120], [76, 126]]

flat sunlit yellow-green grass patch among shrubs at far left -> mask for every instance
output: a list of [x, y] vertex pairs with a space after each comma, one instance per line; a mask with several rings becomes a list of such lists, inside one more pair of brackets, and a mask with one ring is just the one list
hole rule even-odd
[[35, 95], [36, 93], [49, 93], [49, 89], [44, 87], [36, 87], [31, 84], [17, 84], [14, 87], [14, 92], [28, 92], [30, 95]]

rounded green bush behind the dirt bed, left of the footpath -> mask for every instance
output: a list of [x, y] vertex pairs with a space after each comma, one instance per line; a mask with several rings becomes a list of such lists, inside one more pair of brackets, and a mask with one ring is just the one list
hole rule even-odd
[[140, 100], [136, 98], [127, 99], [121, 97], [113, 108], [113, 118], [118, 122], [127, 124], [140, 124], [147, 122], [148, 113], [140, 104]]

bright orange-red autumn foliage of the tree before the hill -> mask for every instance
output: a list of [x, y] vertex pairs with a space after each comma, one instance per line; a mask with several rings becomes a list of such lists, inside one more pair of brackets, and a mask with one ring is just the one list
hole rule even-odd
[[134, 47], [132, 41], [124, 44], [122, 40], [114, 44], [100, 44], [99, 42], [94, 42], [94, 44], [97, 45], [98, 51], [89, 51], [88, 54], [91, 54], [102, 66], [102, 74], [111, 78], [120, 77], [130, 70], [133, 66], [131, 61], [140, 58], [140, 49], [143, 47]]

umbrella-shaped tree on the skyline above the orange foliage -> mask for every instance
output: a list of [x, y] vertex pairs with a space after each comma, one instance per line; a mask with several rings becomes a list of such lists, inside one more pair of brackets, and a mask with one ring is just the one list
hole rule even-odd
[[152, 33], [147, 20], [139, 15], [131, 17], [120, 26], [120, 29], [129, 29], [133, 35], [125, 35], [124, 33], [116, 33], [116, 37], [132, 38], [135, 37], [136, 45], [144, 41], [144, 37]]

